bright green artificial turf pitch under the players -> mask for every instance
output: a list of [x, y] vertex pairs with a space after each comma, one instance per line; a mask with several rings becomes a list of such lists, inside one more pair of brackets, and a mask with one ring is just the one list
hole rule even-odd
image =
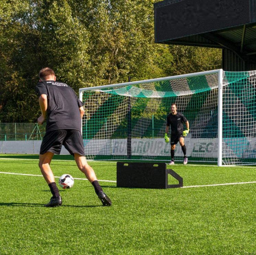
[[[1, 154], [0, 172], [41, 175], [36, 159]], [[54, 159], [55, 176], [85, 178], [72, 158]], [[99, 180], [116, 181], [115, 162], [89, 164]], [[168, 166], [187, 188], [100, 181], [111, 207], [89, 181], [75, 180], [70, 190], [59, 188], [63, 206], [45, 208], [51, 192], [43, 177], [0, 173], [0, 254], [256, 254], [256, 183], [188, 187], [256, 181], [256, 168], [191, 164]]]

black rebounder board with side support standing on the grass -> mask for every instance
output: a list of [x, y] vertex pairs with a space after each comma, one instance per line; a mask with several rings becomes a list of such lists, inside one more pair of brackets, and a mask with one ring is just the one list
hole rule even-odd
[[[168, 174], [179, 181], [179, 184], [168, 185]], [[131, 188], [169, 189], [183, 186], [183, 179], [166, 163], [116, 163], [116, 186]]]

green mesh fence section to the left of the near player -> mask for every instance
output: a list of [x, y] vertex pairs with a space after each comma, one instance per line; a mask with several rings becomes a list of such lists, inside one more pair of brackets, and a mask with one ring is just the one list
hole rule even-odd
[[0, 141], [42, 140], [46, 123], [0, 123]]

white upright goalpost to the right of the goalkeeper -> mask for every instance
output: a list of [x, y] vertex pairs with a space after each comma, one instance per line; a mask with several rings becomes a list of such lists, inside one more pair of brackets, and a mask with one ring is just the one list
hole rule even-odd
[[218, 167], [222, 166], [222, 73], [222, 69], [220, 69], [218, 81]]

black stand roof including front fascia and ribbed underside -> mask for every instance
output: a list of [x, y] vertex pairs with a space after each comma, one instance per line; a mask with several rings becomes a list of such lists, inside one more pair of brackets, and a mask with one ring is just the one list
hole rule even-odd
[[256, 0], [165, 0], [154, 16], [156, 43], [225, 48], [255, 61]]

